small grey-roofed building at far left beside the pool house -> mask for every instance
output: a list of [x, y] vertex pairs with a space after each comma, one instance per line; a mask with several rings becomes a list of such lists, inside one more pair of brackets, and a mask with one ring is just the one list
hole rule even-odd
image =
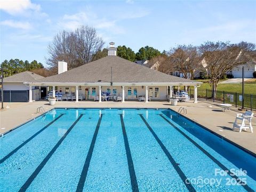
[[[30, 71], [24, 71], [3, 79], [4, 102], [28, 102], [31, 88], [32, 100], [39, 100], [41, 92], [38, 86], [26, 86], [24, 82], [35, 82], [44, 78]], [[45, 87], [46, 94], [46, 87]]]

